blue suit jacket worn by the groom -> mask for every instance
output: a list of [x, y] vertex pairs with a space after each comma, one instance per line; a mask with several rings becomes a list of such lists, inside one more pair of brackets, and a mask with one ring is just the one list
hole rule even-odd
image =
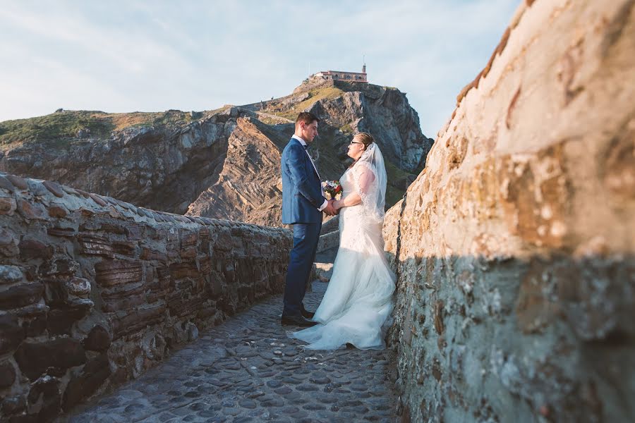
[[322, 183], [304, 146], [294, 138], [282, 151], [282, 223], [320, 223]]

